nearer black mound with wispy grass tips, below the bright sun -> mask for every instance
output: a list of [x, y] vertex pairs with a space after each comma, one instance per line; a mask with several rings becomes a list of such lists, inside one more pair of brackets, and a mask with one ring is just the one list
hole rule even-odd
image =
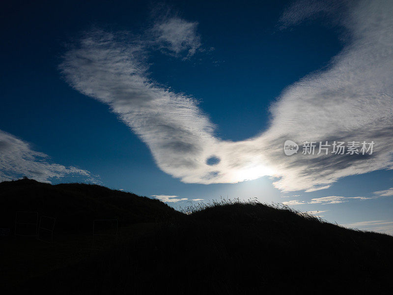
[[153, 225], [134, 225], [130, 238], [13, 291], [391, 294], [393, 287], [392, 236], [345, 229], [288, 208], [214, 203]]

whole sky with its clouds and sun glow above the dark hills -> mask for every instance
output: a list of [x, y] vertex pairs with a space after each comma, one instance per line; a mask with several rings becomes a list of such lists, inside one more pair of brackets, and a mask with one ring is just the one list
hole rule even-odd
[[257, 199], [393, 235], [393, 2], [0, 13], [0, 181]]

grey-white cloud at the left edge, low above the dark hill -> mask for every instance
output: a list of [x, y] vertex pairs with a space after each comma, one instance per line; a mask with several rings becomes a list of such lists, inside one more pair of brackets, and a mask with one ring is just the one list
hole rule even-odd
[[0, 181], [26, 176], [50, 182], [52, 178], [69, 175], [94, 180], [88, 171], [52, 163], [45, 153], [32, 150], [28, 143], [0, 130]]

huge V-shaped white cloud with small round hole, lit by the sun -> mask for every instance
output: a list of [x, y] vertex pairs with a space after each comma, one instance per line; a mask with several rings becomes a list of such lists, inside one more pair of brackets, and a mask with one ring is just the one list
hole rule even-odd
[[[322, 4], [311, 10], [322, 11]], [[291, 24], [306, 17], [299, 16]], [[87, 33], [79, 47], [64, 55], [60, 69], [74, 89], [108, 104], [146, 143], [158, 167], [173, 177], [209, 184], [273, 176], [282, 191], [310, 192], [328, 188], [341, 177], [393, 168], [393, 5], [357, 1], [336, 18], [350, 36], [344, 49], [326, 69], [282, 92], [270, 109], [267, 131], [239, 142], [216, 137], [214, 124], [192, 97], [149, 78], [143, 60], [152, 47], [143, 45], [143, 40]], [[155, 26], [156, 39], [151, 43], [166, 42], [174, 54], [192, 54], [199, 46], [199, 39], [193, 37], [196, 24], [164, 20]], [[366, 156], [300, 152], [285, 156], [287, 139], [374, 141], [375, 146], [373, 154]], [[212, 156], [219, 161], [208, 165]]]

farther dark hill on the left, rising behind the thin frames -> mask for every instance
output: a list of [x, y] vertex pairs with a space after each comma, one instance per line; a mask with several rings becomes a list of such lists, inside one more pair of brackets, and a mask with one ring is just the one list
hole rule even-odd
[[57, 231], [91, 231], [92, 220], [100, 218], [117, 218], [119, 226], [124, 226], [180, 214], [159, 200], [95, 184], [52, 185], [32, 179], [1, 182], [0, 228], [14, 228], [16, 211], [54, 217]]

